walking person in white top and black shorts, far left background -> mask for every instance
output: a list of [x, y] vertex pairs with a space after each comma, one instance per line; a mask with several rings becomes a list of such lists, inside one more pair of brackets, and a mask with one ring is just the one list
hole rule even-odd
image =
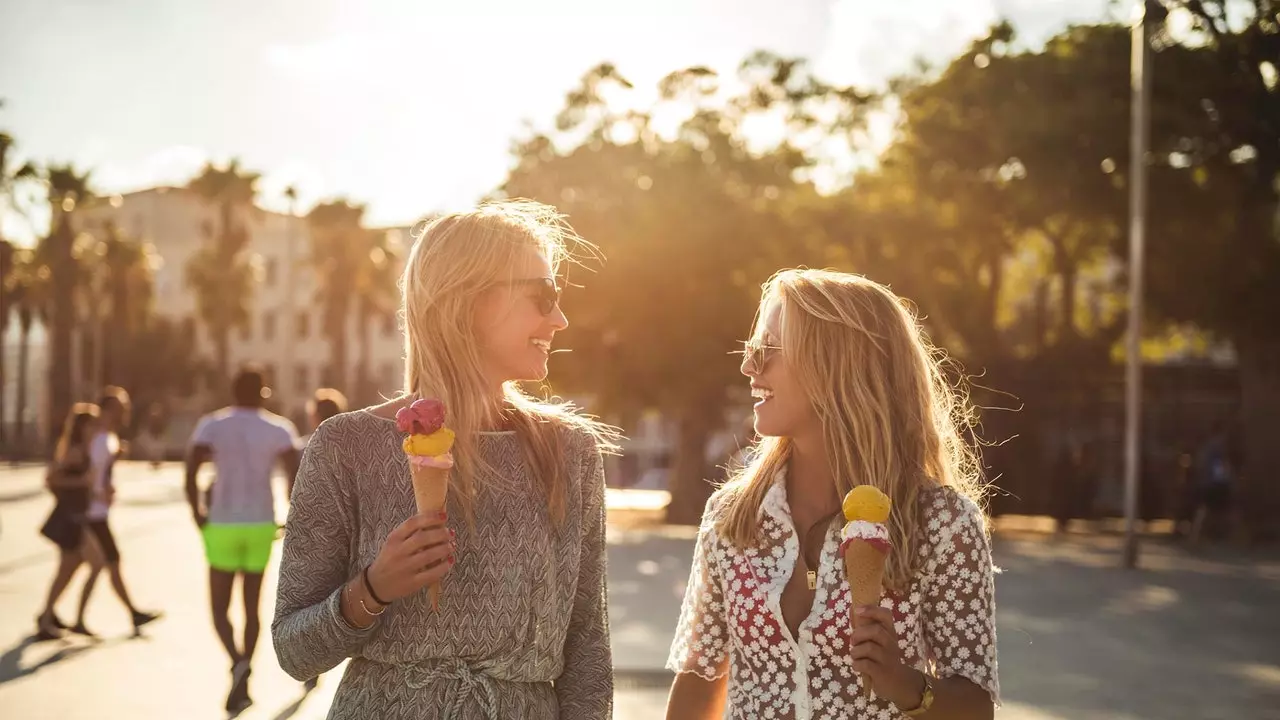
[[92, 559], [88, 578], [84, 579], [84, 587], [81, 589], [79, 614], [72, 632], [96, 637], [84, 626], [84, 612], [93, 594], [97, 577], [105, 568], [111, 578], [115, 596], [129, 611], [133, 634], [138, 635], [142, 626], [159, 620], [160, 614], [138, 610], [129, 598], [129, 591], [124, 587], [124, 575], [120, 573], [120, 548], [109, 521], [111, 505], [115, 503], [115, 464], [125, 452], [119, 433], [129, 427], [129, 393], [122, 387], [108, 386], [102, 388], [97, 406], [102, 421], [90, 443], [90, 503], [84, 512], [86, 528], [90, 530], [87, 548]]

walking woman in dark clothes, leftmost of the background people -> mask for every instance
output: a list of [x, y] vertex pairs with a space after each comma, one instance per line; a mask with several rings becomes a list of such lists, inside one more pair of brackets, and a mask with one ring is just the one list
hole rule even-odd
[[54, 573], [45, 609], [36, 619], [36, 639], [63, 637], [68, 629], [55, 607], [76, 570], [86, 559], [84, 512], [90, 501], [90, 442], [100, 428], [97, 405], [77, 402], [67, 414], [63, 433], [54, 450], [45, 484], [54, 495], [54, 510], [40, 529], [58, 546], [58, 570]]

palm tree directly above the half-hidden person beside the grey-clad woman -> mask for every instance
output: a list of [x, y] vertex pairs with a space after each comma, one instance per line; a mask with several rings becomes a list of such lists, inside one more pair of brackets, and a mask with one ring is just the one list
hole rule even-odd
[[[328, 382], [339, 389], [347, 379], [347, 322], [357, 301], [360, 270], [369, 261], [369, 231], [361, 227], [365, 208], [346, 200], [321, 202], [307, 214], [311, 264], [316, 270], [316, 302], [321, 332], [329, 338]], [[348, 391], [349, 392], [349, 391]]]

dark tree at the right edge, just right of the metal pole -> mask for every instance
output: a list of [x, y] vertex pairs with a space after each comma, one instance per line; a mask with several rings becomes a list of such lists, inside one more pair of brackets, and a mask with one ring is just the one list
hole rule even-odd
[[[1239, 357], [1243, 539], [1275, 537], [1280, 512], [1280, 3], [1169, 0], [1194, 22], [1166, 37], [1155, 77], [1178, 83], [1184, 132], [1160, 137], [1152, 178], [1151, 304], [1231, 341]], [[1178, 65], [1171, 67], [1167, 58]], [[1196, 61], [1189, 61], [1196, 60]], [[1165, 214], [1161, 208], [1196, 209]]]

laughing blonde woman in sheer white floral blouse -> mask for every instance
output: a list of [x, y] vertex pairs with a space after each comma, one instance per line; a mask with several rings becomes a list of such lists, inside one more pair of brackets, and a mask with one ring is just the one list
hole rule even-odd
[[[755, 324], [742, 374], [763, 439], [708, 501], [667, 717], [991, 717], [983, 486], [938, 352], [899, 297], [844, 273], [778, 273]], [[859, 484], [892, 500], [892, 551], [883, 602], [851, 609], [837, 548]], [[851, 611], [872, 623], [852, 630]]]

